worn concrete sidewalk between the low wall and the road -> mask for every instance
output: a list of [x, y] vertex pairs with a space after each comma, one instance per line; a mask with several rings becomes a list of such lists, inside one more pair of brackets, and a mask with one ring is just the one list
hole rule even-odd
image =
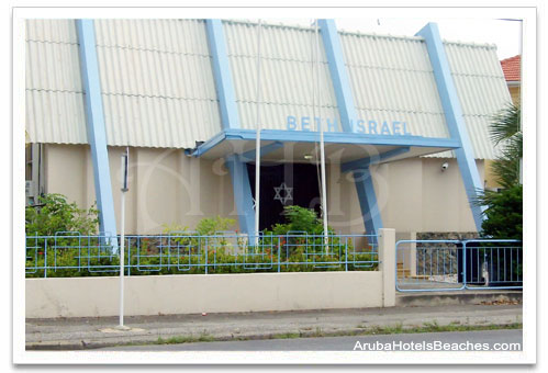
[[373, 327], [508, 325], [522, 323], [522, 305], [450, 305], [305, 312], [167, 315], [126, 317], [128, 331], [114, 329], [118, 317], [27, 319], [26, 349], [88, 349], [169, 339], [266, 339], [282, 334], [302, 337], [353, 334]]

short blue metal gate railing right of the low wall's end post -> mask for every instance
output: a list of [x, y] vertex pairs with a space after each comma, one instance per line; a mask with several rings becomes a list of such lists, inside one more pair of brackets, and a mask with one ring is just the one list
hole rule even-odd
[[519, 240], [401, 240], [395, 252], [400, 292], [523, 289]]

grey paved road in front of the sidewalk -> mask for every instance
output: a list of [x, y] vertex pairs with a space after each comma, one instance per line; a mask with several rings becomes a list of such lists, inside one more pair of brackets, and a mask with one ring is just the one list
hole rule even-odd
[[[429, 334], [404, 334], [387, 336], [355, 336], [355, 337], [322, 337], [322, 338], [295, 338], [295, 339], [269, 339], [269, 340], [246, 340], [226, 342], [197, 342], [181, 344], [156, 344], [156, 346], [128, 346], [104, 348], [108, 351], [365, 351], [371, 350], [379, 343], [390, 343], [394, 349], [405, 349], [415, 344], [433, 343], [439, 346], [444, 343], [467, 342], [481, 343], [476, 346], [476, 351], [495, 348], [495, 343], [519, 343], [517, 350], [521, 351], [523, 334], [521, 329], [510, 330], [483, 330], [483, 331], [458, 331], [458, 332], [429, 332]], [[359, 341], [359, 343], [357, 343]], [[395, 344], [393, 343], [395, 342]], [[402, 342], [401, 348], [398, 342]], [[434, 344], [434, 343], [437, 344]], [[367, 344], [369, 343], [369, 344]], [[487, 343], [487, 344], [484, 344]], [[385, 346], [385, 344], [384, 344]], [[501, 346], [500, 348], [504, 348]], [[451, 344], [450, 348], [455, 348]], [[473, 347], [472, 347], [473, 348]], [[506, 347], [506, 349], [510, 347]], [[385, 349], [385, 348], [384, 348]], [[513, 348], [513, 350], [516, 350]], [[446, 350], [446, 351], [450, 351]]]

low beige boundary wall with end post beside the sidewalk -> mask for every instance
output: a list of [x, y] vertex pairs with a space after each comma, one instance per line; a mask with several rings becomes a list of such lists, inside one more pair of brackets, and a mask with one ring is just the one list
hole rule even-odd
[[[379, 236], [379, 271], [128, 276], [124, 314], [391, 307], [394, 230], [381, 229]], [[26, 279], [25, 316], [115, 316], [119, 284], [118, 276]]]

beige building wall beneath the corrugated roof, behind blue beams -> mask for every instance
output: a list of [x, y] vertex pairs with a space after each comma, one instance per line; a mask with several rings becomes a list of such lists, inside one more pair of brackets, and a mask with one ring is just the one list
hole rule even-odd
[[[110, 147], [114, 208], [120, 217], [120, 155]], [[126, 200], [126, 233], [160, 233], [164, 224], [193, 229], [203, 217], [236, 219], [232, 183], [222, 160], [184, 156], [181, 149], [132, 148]], [[93, 201], [88, 146], [47, 145], [46, 191], [82, 207]], [[441, 171], [443, 162], [449, 168]], [[477, 161], [483, 179], [483, 161]], [[411, 158], [371, 168], [385, 227], [396, 231], [471, 231], [472, 214], [456, 159]], [[338, 163], [327, 165], [329, 225], [340, 233], [364, 233], [356, 187]]]

